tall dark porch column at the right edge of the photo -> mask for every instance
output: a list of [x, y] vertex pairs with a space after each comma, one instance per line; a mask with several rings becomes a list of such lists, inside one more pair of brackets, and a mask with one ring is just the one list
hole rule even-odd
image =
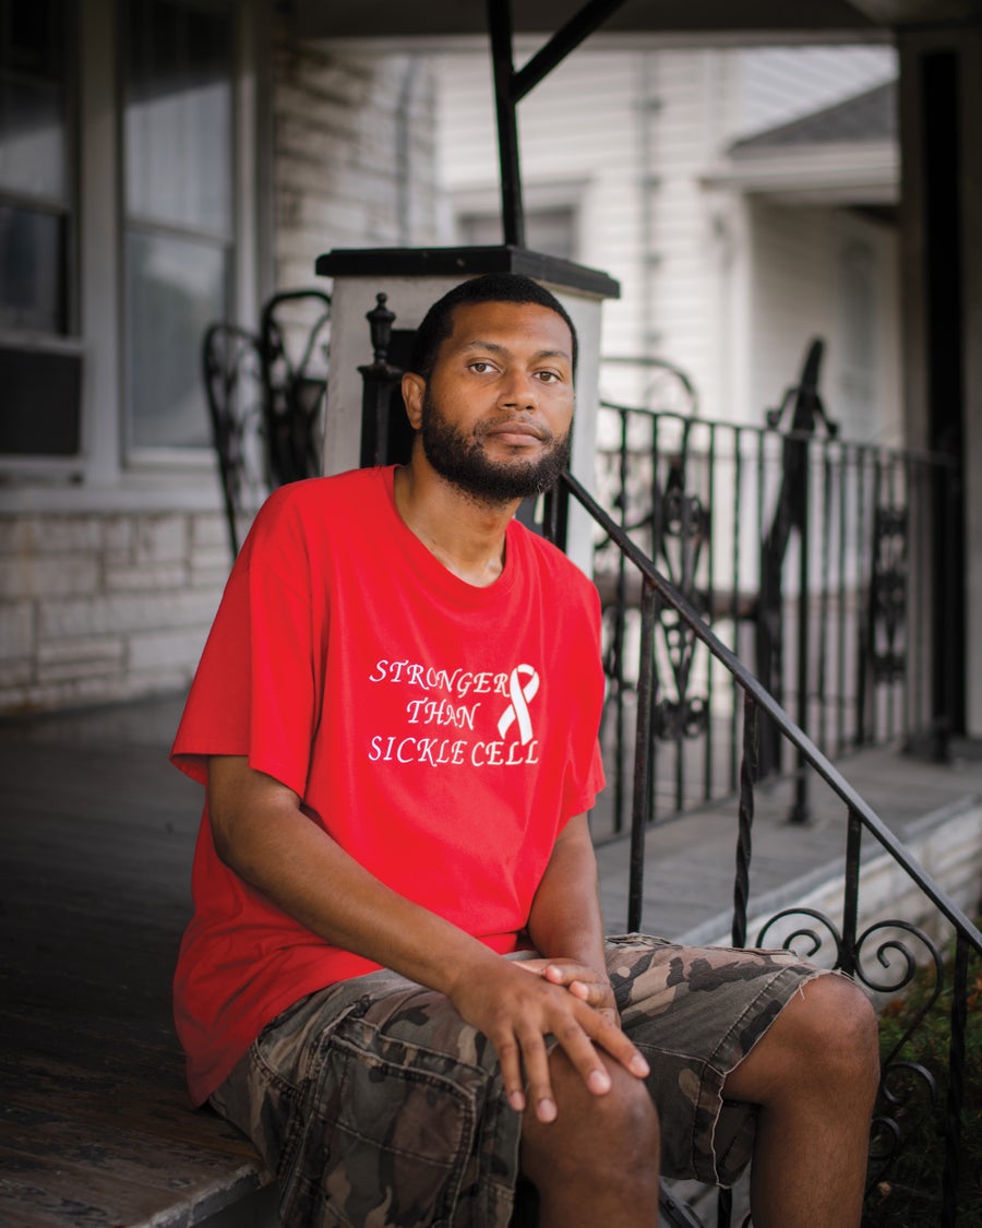
[[961, 458], [933, 508], [948, 522], [934, 575], [911, 577], [933, 593], [922, 647], [945, 753], [950, 736], [982, 739], [982, 26], [901, 31], [897, 45], [907, 438]]

